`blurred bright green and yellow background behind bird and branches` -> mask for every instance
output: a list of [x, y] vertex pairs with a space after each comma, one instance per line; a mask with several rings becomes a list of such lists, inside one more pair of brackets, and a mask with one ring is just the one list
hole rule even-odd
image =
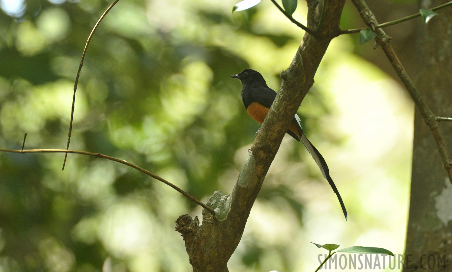
[[[203, 202], [230, 193], [259, 124], [229, 76], [255, 69], [278, 90], [304, 34], [270, 1], [231, 14], [236, 2], [119, 1], [85, 57], [71, 149], [137, 164]], [[80, 57], [109, 4], [0, 0], [0, 148], [20, 149], [24, 133], [25, 148], [66, 148]], [[381, 23], [416, 12], [414, 1], [369, 6]], [[305, 23], [305, 14], [299, 1], [294, 17]], [[387, 29], [409, 72], [417, 25]], [[347, 3], [341, 28], [362, 26]], [[310, 242], [403, 254], [414, 106], [372, 47], [358, 34], [335, 38], [298, 111], [348, 221], [304, 146], [286, 136], [231, 272], [314, 271], [327, 252]], [[61, 171], [63, 157], [0, 153], [0, 271], [192, 271], [174, 221], [200, 217], [200, 207], [112, 161], [69, 154]]]

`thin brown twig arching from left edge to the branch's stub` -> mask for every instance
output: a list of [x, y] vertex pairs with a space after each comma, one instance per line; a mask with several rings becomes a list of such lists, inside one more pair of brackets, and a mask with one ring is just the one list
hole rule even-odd
[[[27, 135], [27, 134], [25, 134]], [[107, 159], [110, 161], [116, 161], [119, 163], [122, 163], [124, 165], [130, 166], [134, 169], [137, 169], [138, 171], [145, 173], [146, 175], [149, 175], [151, 177], [153, 177], [156, 180], [160, 180], [161, 182], [165, 183], [166, 185], [169, 185], [170, 187], [172, 187], [173, 189], [175, 189], [176, 191], [178, 191], [179, 193], [183, 194], [186, 198], [190, 199], [191, 201], [193, 201], [194, 203], [198, 204], [199, 206], [205, 208], [207, 211], [209, 211], [210, 213], [212, 213], [212, 215], [215, 215], [215, 211], [207, 206], [206, 204], [202, 203], [201, 201], [199, 201], [198, 199], [194, 198], [193, 196], [189, 195], [187, 192], [185, 192], [183, 189], [180, 189], [179, 187], [177, 187], [176, 185], [172, 184], [171, 182], [161, 178], [158, 175], [155, 175], [149, 171], [147, 171], [146, 169], [141, 168], [140, 166], [134, 165], [130, 162], [124, 161], [124, 160], [120, 160], [118, 158], [115, 157], [111, 157], [111, 156], [107, 156], [101, 153], [93, 153], [93, 152], [87, 152], [87, 151], [80, 151], [80, 150], [68, 150], [68, 149], [27, 149], [27, 150], [16, 150], [16, 149], [0, 149], [0, 152], [10, 152], [10, 153], [75, 153], [75, 154], [81, 154], [81, 155], [87, 155], [87, 156], [92, 156], [92, 157], [96, 157], [96, 158], [100, 158], [100, 159]]]

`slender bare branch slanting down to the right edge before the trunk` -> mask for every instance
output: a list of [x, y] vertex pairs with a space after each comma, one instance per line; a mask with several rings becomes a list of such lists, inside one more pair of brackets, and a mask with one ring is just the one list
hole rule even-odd
[[[352, 0], [352, 2], [358, 9], [359, 14], [361, 14], [364, 23], [366, 23], [369, 27], [371, 27], [372, 24], [378, 25], [375, 15], [372, 14], [372, 11], [369, 9], [364, 0]], [[449, 180], [452, 183], [451, 156], [449, 154], [449, 151], [447, 150], [446, 142], [444, 141], [444, 138], [441, 135], [441, 131], [439, 130], [437, 116], [435, 116], [433, 112], [430, 110], [430, 108], [428, 108], [421, 94], [418, 92], [416, 87], [414, 87], [413, 81], [411, 81], [411, 78], [406, 73], [405, 68], [403, 67], [399, 58], [397, 57], [397, 55], [395, 55], [395, 51], [392, 48], [391, 44], [389, 43], [391, 38], [388, 35], [386, 35], [386, 33], [381, 28], [376, 29], [375, 32], [377, 33], [377, 37], [375, 39], [381, 45], [381, 48], [385, 52], [388, 60], [391, 62], [391, 65], [394, 68], [395, 73], [397, 73], [406, 90], [410, 93], [410, 96], [413, 99], [414, 104], [419, 109], [422, 117], [424, 118], [425, 123], [431, 130], [433, 138], [435, 139], [436, 145], [438, 147], [439, 154], [443, 161], [444, 168], [446, 168], [447, 174], [449, 175]]]

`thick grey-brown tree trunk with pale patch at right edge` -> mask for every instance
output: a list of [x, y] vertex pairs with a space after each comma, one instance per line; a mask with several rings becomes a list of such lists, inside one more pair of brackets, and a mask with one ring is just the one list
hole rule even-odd
[[[443, 1], [420, 0], [419, 4], [420, 8], [429, 9]], [[435, 115], [452, 117], [452, 10], [441, 9], [438, 13], [441, 15], [433, 17], [427, 26], [419, 24], [416, 86]], [[447, 148], [452, 148], [452, 123], [441, 122], [440, 129]], [[404, 271], [451, 271], [451, 261], [452, 184], [432, 134], [415, 109]]]

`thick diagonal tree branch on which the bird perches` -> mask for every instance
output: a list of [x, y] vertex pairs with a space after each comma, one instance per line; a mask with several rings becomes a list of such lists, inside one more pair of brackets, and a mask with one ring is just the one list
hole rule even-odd
[[[317, 0], [308, 0], [308, 28], [319, 22]], [[185, 240], [193, 272], [227, 272], [227, 262], [240, 242], [251, 207], [264, 182], [282, 138], [301, 101], [314, 83], [314, 74], [334, 35], [345, 0], [325, 1], [325, 16], [319, 37], [305, 35], [291, 65], [281, 72], [282, 83], [267, 117], [260, 128], [231, 194], [215, 192], [207, 205], [215, 217], [202, 213], [198, 218], [182, 215], [176, 230]], [[337, 36], [337, 35], [336, 35]]]

